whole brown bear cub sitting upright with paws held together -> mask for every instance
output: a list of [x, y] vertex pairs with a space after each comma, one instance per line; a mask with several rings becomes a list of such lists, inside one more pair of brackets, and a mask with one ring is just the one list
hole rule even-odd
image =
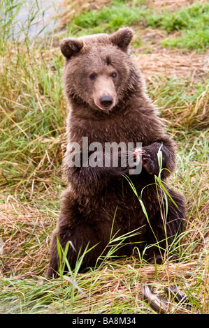
[[[84, 269], [106, 255], [111, 237], [127, 237], [114, 255], [136, 251], [146, 260], [160, 262], [182, 232], [185, 200], [166, 183], [175, 168], [174, 143], [145, 94], [143, 77], [129, 54], [132, 37], [127, 27], [110, 36], [101, 33], [62, 40], [64, 91], [70, 108], [64, 164], [69, 186], [52, 237], [48, 276], [56, 276], [59, 270], [57, 237], [63, 250], [69, 243], [71, 269], [85, 248], [92, 248], [83, 258], [80, 269]], [[105, 151], [106, 144], [113, 143], [134, 145], [133, 151], [118, 147], [117, 165], [113, 149], [110, 158]], [[136, 163], [140, 151], [134, 152], [138, 143], [140, 164]], [[101, 145], [96, 153], [95, 144]], [[130, 154], [134, 169], [129, 165]], [[92, 156], [94, 161], [90, 161]], [[137, 165], [141, 170], [135, 174]], [[157, 185], [159, 174], [164, 188]]]

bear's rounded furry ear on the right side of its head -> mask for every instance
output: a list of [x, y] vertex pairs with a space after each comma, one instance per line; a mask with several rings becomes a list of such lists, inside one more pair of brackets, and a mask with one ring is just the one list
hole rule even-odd
[[122, 27], [110, 36], [110, 41], [113, 45], [117, 45], [117, 47], [120, 47], [121, 50], [127, 52], [129, 43], [131, 42], [133, 36], [133, 29], [130, 29], [130, 27]]

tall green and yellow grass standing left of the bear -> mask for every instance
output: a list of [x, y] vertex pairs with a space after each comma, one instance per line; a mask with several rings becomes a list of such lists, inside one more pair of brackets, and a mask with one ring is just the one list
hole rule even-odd
[[1, 1], [10, 20], [1, 21], [0, 186], [23, 188], [28, 197], [36, 181], [43, 181], [43, 189], [50, 185], [62, 162], [66, 104], [63, 59], [48, 45], [34, 47], [31, 39], [14, 37], [15, 15], [22, 1], [16, 3], [11, 6], [10, 1]]

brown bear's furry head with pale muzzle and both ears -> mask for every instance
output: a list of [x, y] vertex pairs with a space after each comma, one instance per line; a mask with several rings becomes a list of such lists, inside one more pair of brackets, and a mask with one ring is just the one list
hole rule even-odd
[[110, 36], [99, 33], [62, 40], [64, 89], [70, 103], [74, 100], [108, 112], [128, 97], [138, 82], [128, 52], [133, 34], [125, 27]]

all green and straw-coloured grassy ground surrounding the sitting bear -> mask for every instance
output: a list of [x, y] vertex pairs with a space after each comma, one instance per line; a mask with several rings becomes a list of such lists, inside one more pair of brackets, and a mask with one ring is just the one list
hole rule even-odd
[[[144, 283], [159, 292], [178, 285], [192, 311], [208, 313], [207, 1], [65, 1], [66, 31], [45, 40], [26, 33], [20, 41], [13, 31], [22, 2], [0, 1], [0, 313], [154, 313], [143, 301]], [[132, 56], [178, 144], [172, 184], [187, 197], [188, 211], [179, 262], [109, 258], [99, 269], [75, 271], [70, 282], [64, 276], [48, 281], [50, 238], [65, 188], [68, 111], [57, 43], [69, 33], [125, 25], [136, 31]]]

